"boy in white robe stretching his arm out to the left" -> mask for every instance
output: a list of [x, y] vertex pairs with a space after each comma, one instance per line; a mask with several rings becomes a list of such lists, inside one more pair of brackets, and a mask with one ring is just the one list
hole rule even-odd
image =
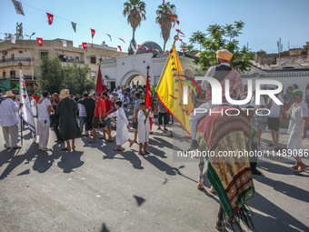
[[125, 110], [122, 106], [122, 101], [115, 102], [116, 111], [105, 117], [105, 121], [108, 118], [112, 118], [117, 116], [117, 124], [116, 124], [116, 145], [118, 148], [115, 148], [115, 151], [123, 151], [123, 146], [126, 141], [130, 142], [130, 147], [135, 143], [134, 140], [129, 138], [129, 129], [130, 125], [125, 116]]

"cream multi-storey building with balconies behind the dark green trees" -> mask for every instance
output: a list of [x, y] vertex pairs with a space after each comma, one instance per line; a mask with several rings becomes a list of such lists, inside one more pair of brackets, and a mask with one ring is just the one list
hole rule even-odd
[[[33, 38], [30, 40], [16, 40], [15, 44], [10, 40], [0, 40], [0, 92], [11, 89], [19, 80], [19, 66], [22, 63], [22, 70], [25, 76], [28, 92], [32, 92], [32, 86], [35, 85], [35, 79], [40, 73], [40, 62], [43, 55], [51, 57], [58, 56], [62, 61], [63, 66], [72, 63], [80, 65], [88, 64], [91, 68], [91, 76], [97, 76], [98, 68], [95, 64], [99, 58], [110, 59], [118, 56], [127, 55], [117, 51], [117, 48], [105, 45], [88, 44], [84, 49], [83, 45], [75, 47], [73, 41], [65, 40], [66, 46], [63, 45], [62, 39], [43, 40], [43, 45], [40, 46]], [[30, 50], [30, 43], [32, 53]], [[32, 80], [31, 60], [33, 57], [34, 81]], [[6, 89], [5, 89], [6, 88]]]

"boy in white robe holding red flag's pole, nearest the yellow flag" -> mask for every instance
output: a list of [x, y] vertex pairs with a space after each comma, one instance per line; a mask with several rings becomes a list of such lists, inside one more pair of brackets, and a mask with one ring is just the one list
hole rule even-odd
[[[138, 143], [139, 143], [139, 152], [138, 155], [148, 155], [149, 151], [146, 150], [147, 143], [149, 142], [149, 134], [150, 134], [150, 122], [149, 117], [154, 117], [154, 113], [147, 109], [145, 102], [141, 102], [139, 104], [140, 110], [137, 115], [137, 135], [138, 135]], [[144, 151], [142, 152], [144, 144]]]

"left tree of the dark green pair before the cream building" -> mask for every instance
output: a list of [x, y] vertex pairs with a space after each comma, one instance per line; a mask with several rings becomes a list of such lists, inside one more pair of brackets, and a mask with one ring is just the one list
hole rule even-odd
[[40, 64], [40, 75], [37, 79], [40, 92], [47, 90], [50, 94], [59, 93], [62, 89], [64, 73], [58, 57], [44, 55]]

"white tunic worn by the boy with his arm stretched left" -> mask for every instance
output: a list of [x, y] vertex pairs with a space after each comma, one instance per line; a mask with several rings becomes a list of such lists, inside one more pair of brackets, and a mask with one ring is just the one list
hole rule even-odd
[[116, 124], [116, 145], [123, 145], [126, 141], [129, 140], [129, 130], [127, 126], [129, 122], [126, 119], [125, 111], [123, 108], [119, 108], [114, 113], [110, 114], [109, 117], [117, 116], [117, 124]]

